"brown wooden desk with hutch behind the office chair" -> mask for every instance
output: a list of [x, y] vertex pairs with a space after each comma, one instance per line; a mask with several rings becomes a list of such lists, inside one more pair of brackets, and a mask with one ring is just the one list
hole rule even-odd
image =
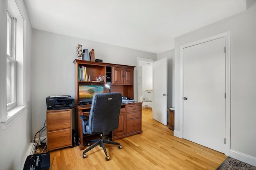
[[[133, 96], [133, 72], [134, 66], [121, 64], [100, 63], [84, 60], [74, 60], [75, 64], [75, 104], [78, 104], [79, 85], [102, 85], [110, 84], [111, 92], [120, 92], [122, 96], [134, 98]], [[86, 67], [87, 74], [90, 74], [91, 81], [78, 81], [79, 67]], [[105, 76], [105, 81], [96, 82], [94, 79], [99, 75]], [[109, 89], [104, 86], [104, 93], [108, 93]], [[87, 118], [90, 113], [91, 105], [76, 106], [76, 119], [78, 130], [78, 146], [80, 150], [84, 149], [83, 138], [86, 137], [82, 133], [82, 121], [79, 115], [85, 115]], [[119, 117], [119, 126], [110, 133], [112, 141], [127, 137], [130, 135], [142, 133], [141, 128], [141, 102], [131, 104], [122, 104]], [[88, 135], [87, 135], [88, 137]]]

